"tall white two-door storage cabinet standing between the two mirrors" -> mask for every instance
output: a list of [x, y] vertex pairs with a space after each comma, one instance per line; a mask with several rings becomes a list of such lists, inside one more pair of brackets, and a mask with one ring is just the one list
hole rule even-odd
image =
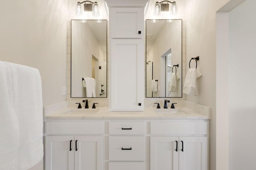
[[110, 111], [144, 110], [144, 8], [110, 7]]

